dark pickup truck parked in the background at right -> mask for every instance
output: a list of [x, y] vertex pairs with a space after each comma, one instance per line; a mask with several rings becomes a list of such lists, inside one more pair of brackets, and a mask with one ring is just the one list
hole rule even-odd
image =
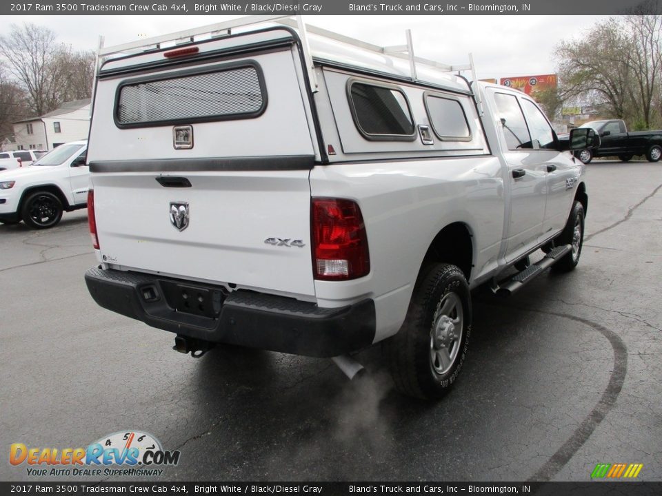
[[[595, 130], [601, 139], [598, 148], [575, 152], [575, 156], [585, 164], [592, 161], [593, 157], [601, 156], [617, 156], [623, 162], [635, 155], [645, 155], [648, 161], [657, 162], [662, 156], [662, 130], [628, 132], [622, 119], [590, 121], [579, 127]], [[564, 137], [559, 136], [561, 139]]]

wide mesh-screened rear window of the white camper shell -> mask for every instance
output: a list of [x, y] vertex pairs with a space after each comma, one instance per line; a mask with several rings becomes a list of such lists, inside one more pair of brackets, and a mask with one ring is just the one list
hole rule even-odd
[[119, 86], [119, 127], [222, 121], [259, 116], [266, 92], [259, 66], [223, 65], [133, 79]]

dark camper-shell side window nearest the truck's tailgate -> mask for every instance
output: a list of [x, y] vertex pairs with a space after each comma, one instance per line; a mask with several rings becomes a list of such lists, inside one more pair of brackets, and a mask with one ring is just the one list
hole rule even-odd
[[365, 138], [377, 141], [416, 139], [409, 103], [398, 87], [350, 80], [348, 97], [354, 123]]

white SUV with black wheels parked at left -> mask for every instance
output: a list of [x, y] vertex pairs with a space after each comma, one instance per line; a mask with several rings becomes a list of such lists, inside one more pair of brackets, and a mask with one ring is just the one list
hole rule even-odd
[[63, 211], [85, 208], [87, 147], [87, 141], [72, 141], [29, 167], [0, 172], [0, 223], [23, 220], [34, 229], [45, 229], [59, 223]]

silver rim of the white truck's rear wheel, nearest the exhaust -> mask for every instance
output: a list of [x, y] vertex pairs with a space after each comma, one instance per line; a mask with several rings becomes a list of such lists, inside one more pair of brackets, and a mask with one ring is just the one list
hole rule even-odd
[[430, 330], [430, 364], [439, 374], [447, 373], [460, 350], [464, 332], [462, 300], [456, 293], [446, 293], [437, 305]]

